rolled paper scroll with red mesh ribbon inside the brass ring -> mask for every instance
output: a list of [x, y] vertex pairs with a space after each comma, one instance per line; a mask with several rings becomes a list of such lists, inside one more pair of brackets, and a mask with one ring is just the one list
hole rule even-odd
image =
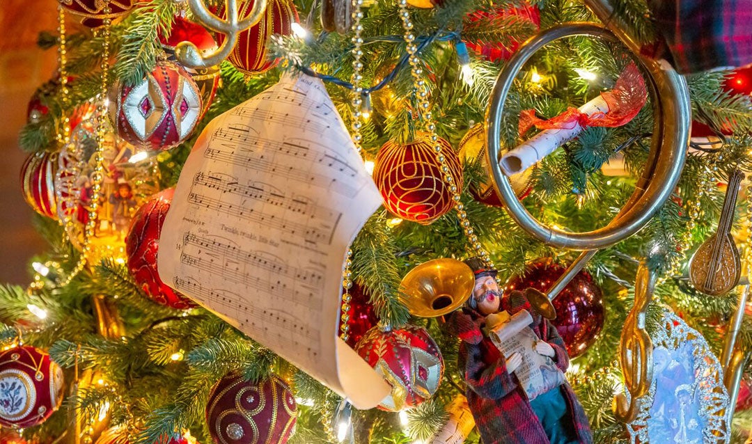
[[614, 89], [603, 92], [579, 108], [570, 107], [550, 120], [539, 119], [535, 116], [535, 110], [524, 110], [520, 114], [520, 135], [532, 126], [543, 131], [502, 156], [499, 165], [507, 176], [525, 171], [559, 146], [577, 137], [588, 126], [624, 125], [640, 112], [645, 101], [645, 82], [632, 62], [624, 68]]

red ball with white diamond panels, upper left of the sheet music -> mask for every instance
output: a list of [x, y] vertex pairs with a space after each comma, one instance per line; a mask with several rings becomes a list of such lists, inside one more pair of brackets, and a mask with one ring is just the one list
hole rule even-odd
[[201, 92], [177, 63], [157, 62], [135, 86], [117, 83], [110, 118], [117, 135], [141, 150], [169, 150], [186, 140], [201, 114]]

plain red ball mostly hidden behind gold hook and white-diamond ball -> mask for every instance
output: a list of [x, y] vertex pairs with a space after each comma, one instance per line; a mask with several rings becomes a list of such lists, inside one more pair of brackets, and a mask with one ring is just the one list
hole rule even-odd
[[[217, 42], [214, 41], [214, 38], [211, 37], [211, 34], [203, 26], [186, 20], [183, 17], [174, 18], [169, 37], [165, 37], [161, 32], [157, 34], [157, 37], [167, 54], [167, 59], [171, 62], [177, 62], [175, 47], [182, 41], [189, 41], [195, 44], [202, 53], [217, 49]], [[196, 86], [199, 87], [202, 103], [201, 115], [199, 116], [199, 119], [201, 119], [209, 109], [211, 101], [214, 100], [217, 86], [220, 85], [220, 67], [188, 68], [183, 66], [183, 68], [188, 71], [190, 77], [196, 82]]]

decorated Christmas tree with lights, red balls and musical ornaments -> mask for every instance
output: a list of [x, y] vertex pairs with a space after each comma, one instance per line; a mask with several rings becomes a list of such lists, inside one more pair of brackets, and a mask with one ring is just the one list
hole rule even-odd
[[[22, 439], [11, 438], [20, 427], [27, 442], [147, 444], [505, 436], [474, 401], [493, 391], [482, 384], [491, 373], [476, 384], [468, 364], [477, 345], [468, 335], [493, 337], [489, 320], [472, 317], [486, 314], [474, 292], [490, 276], [484, 285], [498, 282], [502, 307], [513, 312], [517, 301], [530, 313], [534, 356], [566, 371], [558, 384], [572, 386], [587, 415], [578, 433], [744, 442], [752, 68], [676, 74], [667, 53], [635, 56], [666, 31], [648, 2], [586, 3], [60, 0], [59, 29], [39, 38], [57, 50], [59, 72], [32, 98], [20, 134], [23, 191], [50, 247], [30, 265], [28, 288], [0, 286], [3, 435]], [[282, 138], [259, 129], [271, 127]], [[210, 161], [232, 174], [196, 166]], [[320, 173], [327, 162], [337, 175]], [[358, 192], [378, 190], [381, 207], [363, 210], [365, 198], [336, 207], [363, 177]], [[302, 183], [317, 180], [331, 183], [314, 201]], [[256, 207], [244, 214], [246, 201]], [[238, 243], [277, 251], [299, 236], [304, 257], [344, 230], [314, 227], [334, 213], [362, 221], [336, 276]], [[177, 222], [192, 217], [197, 227], [239, 218], [248, 233], [183, 231]], [[566, 273], [570, 265], [584, 269]], [[165, 270], [177, 271], [162, 279]], [[390, 397], [380, 409], [351, 406], [352, 389], [342, 397], [290, 350], [249, 333], [308, 338], [310, 319], [282, 328], [284, 315], [208, 288], [212, 276], [268, 294], [264, 307], [280, 311], [299, 296], [290, 282], [338, 282], [341, 293], [308, 298], [338, 307], [324, 319], [339, 319], [336, 334]], [[560, 276], [572, 280], [552, 291]], [[551, 310], [555, 319], [544, 319]], [[468, 330], [462, 313], [480, 323]], [[509, 376], [519, 364], [502, 358], [490, 371], [521, 386], [521, 373]], [[514, 390], [531, 405], [542, 396]], [[500, 400], [496, 408], [508, 412]], [[538, 421], [529, 408], [514, 421]]]

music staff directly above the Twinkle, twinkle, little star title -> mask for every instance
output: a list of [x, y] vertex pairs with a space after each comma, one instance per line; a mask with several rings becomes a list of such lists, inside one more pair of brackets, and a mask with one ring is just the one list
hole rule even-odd
[[[220, 199], [211, 198], [208, 195], [202, 195], [199, 192], [193, 192], [193, 189], [188, 195], [188, 203], [198, 205], [199, 207], [205, 207], [209, 210], [216, 210], [217, 213], [238, 217], [249, 222], [263, 224], [266, 228], [280, 231], [283, 235], [299, 237], [305, 243], [311, 243], [314, 245], [320, 242], [331, 243], [334, 238], [336, 225], [326, 231], [319, 228], [311, 228], [305, 223], [291, 222], [288, 219], [277, 217], [274, 214], [264, 213], [252, 208], [244, 208], [244, 202], [241, 202], [240, 205], [223, 202]], [[337, 220], [339, 220], [339, 218]], [[274, 221], [277, 221], [277, 223], [271, 223]]]

